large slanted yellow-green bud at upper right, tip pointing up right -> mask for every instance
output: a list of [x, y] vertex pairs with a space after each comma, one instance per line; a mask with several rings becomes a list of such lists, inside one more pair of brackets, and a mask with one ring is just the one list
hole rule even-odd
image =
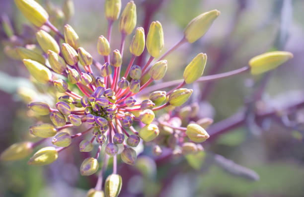
[[194, 43], [201, 38], [210, 28], [213, 21], [220, 15], [217, 9], [202, 13], [193, 18], [184, 30], [184, 36], [189, 43]]

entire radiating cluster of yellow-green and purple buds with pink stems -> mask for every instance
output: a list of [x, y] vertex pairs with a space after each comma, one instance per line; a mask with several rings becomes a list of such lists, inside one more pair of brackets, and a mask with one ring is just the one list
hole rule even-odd
[[[105, 194], [106, 197], [117, 197], [122, 186], [122, 178], [116, 169], [117, 154], [120, 153], [123, 162], [133, 165], [137, 158], [134, 147], [138, 146], [141, 140], [153, 145], [155, 155], [161, 154], [161, 146], [164, 144], [172, 148], [176, 154], [195, 154], [203, 150], [200, 143], [209, 138], [205, 129], [212, 120], [205, 118], [196, 122], [183, 122], [186, 119], [190, 120], [188, 117], [194, 117], [198, 112], [197, 108], [186, 106], [179, 108], [178, 113], [172, 117], [164, 114], [158, 119], [155, 119], [154, 112], [164, 108], [172, 110], [187, 102], [193, 90], [183, 86], [204, 80], [201, 76], [207, 62], [206, 54], [199, 53], [193, 58], [184, 69], [181, 83], [176, 84], [177, 86], [170, 91], [156, 89], [157, 91], [149, 92], [149, 99], [145, 100], [142, 99], [142, 91], [154, 80], [164, 77], [168, 66], [164, 58], [181, 44], [193, 43], [201, 38], [219, 16], [220, 11], [205, 12], [190, 21], [184, 30], [182, 40], [154, 63], [152, 61], [158, 58], [164, 45], [161, 23], [151, 23], [147, 39], [144, 28], [136, 28], [129, 47], [131, 60], [125, 64], [122, 61], [124, 43], [125, 38], [132, 34], [136, 27], [136, 5], [132, 0], [128, 2], [119, 18], [121, 0], [105, 0], [105, 16], [109, 31], [106, 37], [101, 35], [97, 39], [97, 51], [104, 58], [104, 63], [100, 64], [80, 47], [79, 37], [71, 25], [64, 25], [63, 34], [55, 27], [61, 24], [60, 13], [65, 15], [66, 20], [73, 15], [73, 1], [66, 0], [63, 10], [52, 11], [46, 11], [35, 0], [14, 1], [24, 16], [36, 26], [37, 42], [33, 43], [34, 47], [32, 45], [31, 48], [10, 47], [6, 53], [9, 57], [21, 60], [33, 78], [40, 83], [54, 86], [60, 95], [58, 102], [53, 104], [54, 107], [39, 101], [28, 105], [37, 115], [50, 116], [50, 123], [33, 125], [29, 129], [30, 133], [42, 138], [51, 137], [55, 145], [38, 150], [29, 159], [28, 164], [50, 164], [59, 157], [60, 151], [75, 142], [75, 138], [87, 136], [87, 139], [80, 141], [79, 151], [91, 152], [94, 146], [98, 148], [95, 156], [88, 157], [82, 162], [81, 175], [89, 176], [98, 171], [98, 158], [102, 146], [105, 152], [104, 168], [107, 167], [107, 158], [114, 158], [113, 174], [107, 177], [104, 192], [101, 185], [96, 185], [87, 196], [101, 197]], [[52, 16], [49, 16], [48, 12], [51, 12]], [[112, 50], [111, 29], [114, 21], [118, 19], [122, 35], [121, 48]], [[59, 39], [63, 40], [61, 45]], [[145, 47], [150, 54], [149, 60], [145, 65], [135, 65], [135, 59], [144, 52]], [[225, 76], [247, 70], [251, 70], [253, 74], [262, 73], [290, 58], [292, 54], [289, 52], [269, 52], [250, 60], [249, 66]], [[126, 70], [123, 76], [122, 67]], [[170, 86], [172, 85], [174, 86]], [[161, 85], [159, 87], [161, 88]], [[86, 130], [73, 134], [73, 128], [80, 125], [87, 127]], [[62, 131], [65, 129], [71, 131]], [[1, 153], [1, 160], [25, 158], [43, 141], [44, 139], [35, 143], [15, 143]], [[100, 175], [99, 179], [102, 180], [102, 170]]]

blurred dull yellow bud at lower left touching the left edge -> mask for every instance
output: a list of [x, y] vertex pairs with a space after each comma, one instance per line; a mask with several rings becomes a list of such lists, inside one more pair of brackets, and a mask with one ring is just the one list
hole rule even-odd
[[1, 161], [16, 161], [23, 159], [33, 152], [30, 141], [18, 142], [10, 145], [0, 155]]

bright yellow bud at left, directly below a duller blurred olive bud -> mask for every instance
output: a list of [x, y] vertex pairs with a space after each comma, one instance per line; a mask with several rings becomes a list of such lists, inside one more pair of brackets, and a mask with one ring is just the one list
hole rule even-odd
[[24, 59], [23, 64], [38, 82], [47, 83], [52, 79], [52, 73], [49, 68], [40, 64], [39, 62]]

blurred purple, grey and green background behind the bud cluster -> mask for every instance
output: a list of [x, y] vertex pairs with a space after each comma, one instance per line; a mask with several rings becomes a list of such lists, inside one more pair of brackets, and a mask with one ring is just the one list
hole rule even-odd
[[[61, 7], [63, 0], [49, 0]], [[202, 12], [221, 11], [206, 35], [193, 44], [184, 44], [167, 57], [168, 70], [163, 81], [182, 78], [183, 68], [198, 54], [206, 53], [204, 75], [242, 66], [258, 54], [285, 50], [294, 59], [264, 76], [248, 73], [193, 84], [190, 103], [198, 102], [198, 116], [217, 123], [234, 115], [250, 103], [262, 83], [258, 109], [280, 109], [304, 98], [304, 1], [303, 0], [134, 0], [137, 26], [161, 22], [165, 45], [163, 52], [183, 37], [188, 22]], [[39, 0], [46, 5], [45, 0]], [[122, 0], [122, 8], [127, 3]], [[97, 38], [106, 35], [107, 21], [103, 0], [74, 0], [75, 15], [69, 24], [79, 35], [81, 46], [103, 61], [96, 50]], [[14, 28], [26, 31], [29, 22], [12, 0], [0, 1], [1, 15], [6, 14]], [[28, 30], [25, 36], [32, 36]], [[133, 36], [133, 34], [132, 34]], [[132, 36], [125, 44], [124, 64]], [[36, 122], [27, 109], [23, 92], [43, 97], [43, 86], [35, 86], [20, 61], [3, 52], [7, 37], [0, 31], [0, 152], [10, 144], [30, 139], [28, 127]], [[113, 26], [112, 48], [120, 45], [118, 22]], [[137, 64], [146, 62], [138, 59]], [[266, 81], [266, 82], [263, 82]], [[21, 88], [20, 88], [21, 87]], [[195, 156], [155, 157], [146, 147], [135, 166], [119, 165], [123, 178], [120, 197], [303, 197], [304, 196], [304, 111], [282, 112], [297, 127], [271, 118], [227, 131], [203, 143], [205, 152]], [[284, 119], [284, 120], [285, 120]], [[284, 122], [284, 121], [283, 121]], [[207, 130], [208, 131], [208, 130]], [[48, 142], [50, 143], [50, 142]], [[78, 148], [61, 152], [59, 159], [46, 167], [17, 162], [0, 162], [1, 197], [83, 197], [94, 187], [96, 177], [81, 177], [82, 157]], [[222, 156], [221, 156], [222, 155]], [[79, 158], [80, 157], [80, 158]], [[157, 169], [156, 169], [157, 167]], [[111, 170], [107, 171], [107, 174]]]

